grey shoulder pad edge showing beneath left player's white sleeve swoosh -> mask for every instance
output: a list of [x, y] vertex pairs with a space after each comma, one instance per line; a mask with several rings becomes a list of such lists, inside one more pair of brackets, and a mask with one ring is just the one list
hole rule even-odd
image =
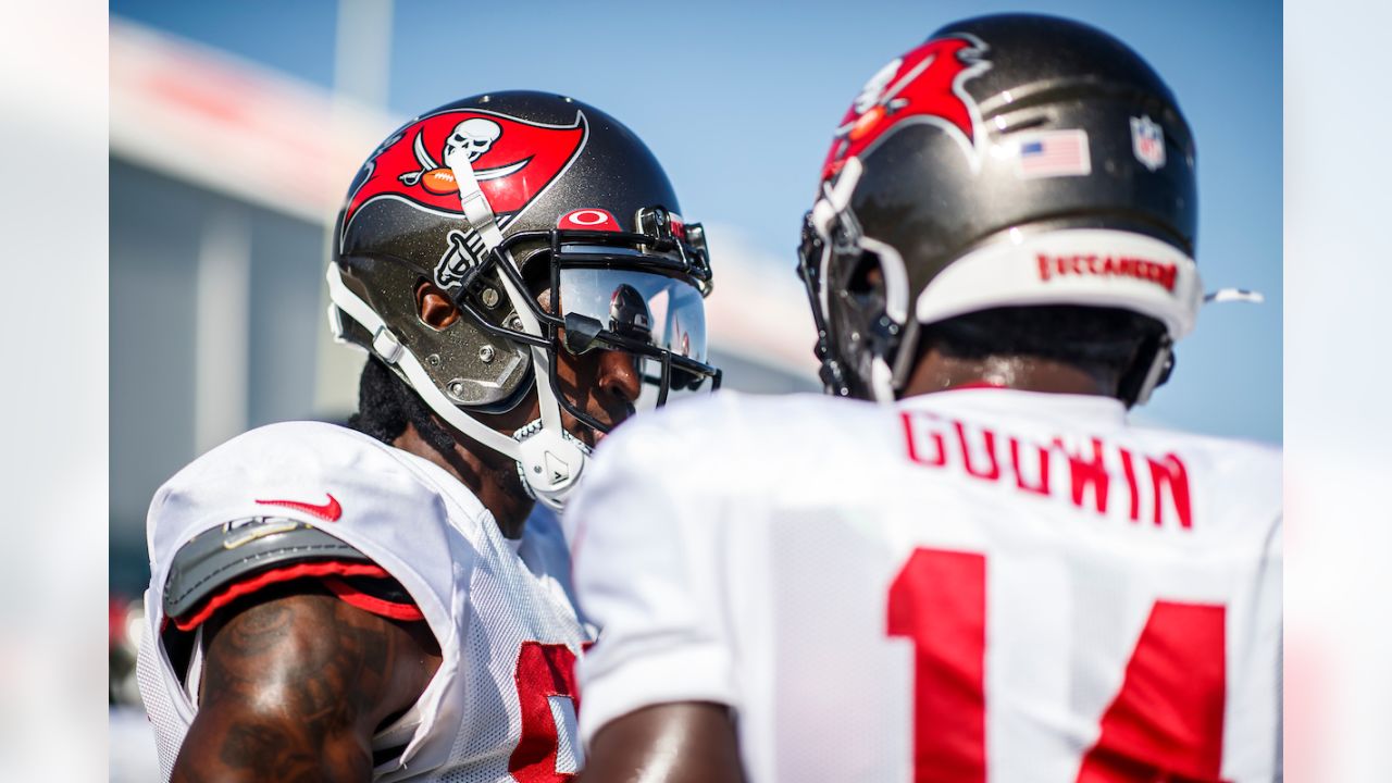
[[164, 582], [164, 614], [180, 617], [219, 588], [277, 566], [335, 560], [372, 563], [342, 541], [306, 522], [251, 517], [205, 531], [174, 553]]

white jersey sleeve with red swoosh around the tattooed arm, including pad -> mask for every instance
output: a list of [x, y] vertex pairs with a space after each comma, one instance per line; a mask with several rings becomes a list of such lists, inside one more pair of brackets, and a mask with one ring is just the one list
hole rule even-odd
[[427, 768], [448, 754], [465, 709], [459, 630], [484, 557], [482, 525], [493, 521], [447, 479], [362, 433], [284, 422], [213, 449], [159, 489], [146, 520], [139, 679], [166, 775], [198, 713], [200, 621], [246, 591], [305, 578], [361, 609], [427, 624], [440, 670], [386, 737], [391, 745], [374, 750], [404, 747], [397, 763]]

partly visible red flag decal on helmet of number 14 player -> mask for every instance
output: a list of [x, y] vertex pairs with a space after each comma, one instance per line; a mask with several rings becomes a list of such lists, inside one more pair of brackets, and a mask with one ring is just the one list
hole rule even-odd
[[980, 59], [986, 49], [976, 36], [956, 33], [935, 38], [880, 68], [841, 120], [823, 178], [903, 123], [941, 127], [962, 145], [972, 167], [979, 166], [981, 113], [963, 85], [991, 67]]

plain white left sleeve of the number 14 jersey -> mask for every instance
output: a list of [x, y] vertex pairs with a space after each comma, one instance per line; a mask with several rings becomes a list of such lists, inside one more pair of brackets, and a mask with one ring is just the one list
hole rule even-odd
[[650, 705], [739, 706], [720, 580], [729, 500], [703, 490], [717, 436], [693, 437], [696, 412], [658, 411], [610, 436], [564, 517], [580, 607], [600, 627], [579, 663], [586, 744]]

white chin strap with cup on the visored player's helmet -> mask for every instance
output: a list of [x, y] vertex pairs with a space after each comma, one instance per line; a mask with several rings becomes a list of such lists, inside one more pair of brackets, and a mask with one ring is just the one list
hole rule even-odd
[[[457, 156], [451, 170], [455, 181], [459, 183], [459, 202], [464, 206], [464, 216], [469, 222], [469, 227], [477, 231], [483, 240], [486, 252], [491, 252], [503, 244], [503, 231], [498, 228], [493, 208], [483, 191], [479, 189], [479, 181], [466, 160], [459, 160]], [[337, 309], [348, 313], [372, 333], [372, 351], [381, 361], [400, 368], [406, 380], [411, 382], [411, 387], [420, 394], [420, 398], [430, 405], [436, 415], [489, 449], [516, 460], [518, 472], [525, 479], [523, 486], [536, 500], [555, 511], [565, 506], [565, 499], [579, 482], [589, 461], [589, 449], [569, 432], [565, 432], [561, 425], [561, 405], [551, 390], [550, 357], [544, 348], [535, 346], [530, 348], [532, 376], [541, 418], [508, 437], [459, 410], [444, 396], [444, 392], [434, 385], [434, 380], [420, 365], [420, 359], [401, 344], [401, 340], [387, 329], [386, 322], [367, 307], [367, 302], [344, 284], [337, 263], [329, 265], [327, 277], [329, 298], [333, 301], [329, 308], [329, 320], [334, 326], [334, 334], [342, 334]], [[512, 311], [522, 323], [522, 330], [526, 334], [541, 337], [541, 325], [532, 312], [529, 294], [518, 290], [512, 279], [501, 270], [498, 279], [512, 302]]]

